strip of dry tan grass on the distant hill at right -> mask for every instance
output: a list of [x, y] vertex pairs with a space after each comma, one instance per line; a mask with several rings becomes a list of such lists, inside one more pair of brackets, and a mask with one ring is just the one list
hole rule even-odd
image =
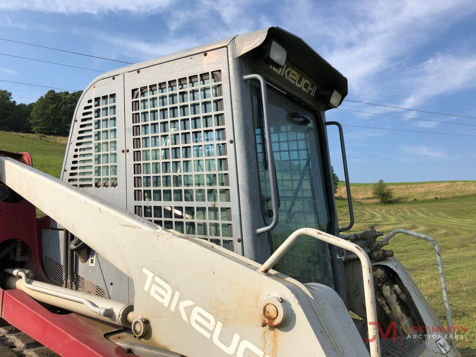
[[[388, 185], [393, 188], [393, 202], [429, 201], [443, 198], [458, 198], [476, 195], [476, 182], [425, 182], [409, 185]], [[378, 199], [372, 197], [372, 186], [350, 186], [352, 200], [363, 204], [378, 203]], [[345, 186], [337, 188], [336, 198], [347, 199]]]

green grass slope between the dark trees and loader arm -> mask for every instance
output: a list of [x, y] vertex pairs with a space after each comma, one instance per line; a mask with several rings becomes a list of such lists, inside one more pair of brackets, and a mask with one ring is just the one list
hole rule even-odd
[[66, 151], [66, 142], [59, 144], [0, 132], [0, 150], [29, 152], [35, 169], [59, 178]]

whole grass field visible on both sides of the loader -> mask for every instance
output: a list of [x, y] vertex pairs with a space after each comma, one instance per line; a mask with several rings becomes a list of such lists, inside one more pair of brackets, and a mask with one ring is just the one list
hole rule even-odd
[[[65, 144], [46, 142], [32, 138], [21, 138], [0, 133], [0, 149], [28, 151], [32, 153], [33, 166], [52, 176], [59, 177]], [[461, 183], [463, 182], [463, 183]], [[375, 226], [377, 230], [390, 232], [395, 228], [407, 228], [435, 238], [440, 245], [446, 274], [449, 299], [455, 326], [467, 326], [464, 339], [457, 342], [463, 356], [476, 356], [476, 195], [463, 195], [467, 187], [476, 181], [438, 181], [391, 183], [392, 187], [405, 188], [396, 191], [397, 198], [435, 196], [435, 189], [453, 190], [453, 199], [423, 200], [380, 205], [354, 202], [355, 225], [352, 232], [360, 232]], [[339, 189], [345, 187], [339, 183]], [[363, 188], [369, 191], [372, 184], [351, 184], [352, 192]], [[467, 187], [466, 187], [467, 186]], [[426, 191], [425, 191], [426, 190]], [[365, 193], [365, 192], [364, 192]], [[441, 192], [440, 192], [441, 193]], [[368, 193], [365, 193], [368, 195]], [[403, 195], [407, 196], [403, 196]], [[354, 197], [354, 195], [353, 195]], [[347, 199], [337, 200], [337, 212], [341, 226], [347, 225]], [[397, 235], [386, 249], [393, 249], [395, 257], [403, 262], [410, 275], [421, 289], [436, 315], [445, 321], [435, 255], [429, 242]]]

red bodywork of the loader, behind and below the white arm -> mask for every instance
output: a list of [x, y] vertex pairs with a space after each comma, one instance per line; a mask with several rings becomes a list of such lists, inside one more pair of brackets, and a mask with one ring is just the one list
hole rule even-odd
[[[28, 153], [0, 154], [32, 166]], [[42, 230], [50, 227], [50, 218], [36, 218], [36, 208], [26, 199], [0, 201], [0, 227], [0, 243], [7, 239], [25, 242], [28, 261], [24, 268], [30, 269], [36, 280], [50, 283], [43, 269], [42, 249]], [[135, 356], [104, 337], [118, 327], [76, 313], [54, 314], [18, 289], [0, 288], [0, 300], [0, 317], [63, 357]]]

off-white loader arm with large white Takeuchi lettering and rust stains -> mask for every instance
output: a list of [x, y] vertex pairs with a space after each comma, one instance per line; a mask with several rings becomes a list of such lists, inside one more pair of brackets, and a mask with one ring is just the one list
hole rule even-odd
[[[328, 287], [319, 296], [276, 271], [263, 274], [256, 262], [160, 228], [14, 159], [0, 157], [0, 180], [133, 279], [134, 317], [145, 321], [146, 344], [185, 356], [368, 356]], [[262, 325], [269, 298], [288, 311], [287, 324]]]

